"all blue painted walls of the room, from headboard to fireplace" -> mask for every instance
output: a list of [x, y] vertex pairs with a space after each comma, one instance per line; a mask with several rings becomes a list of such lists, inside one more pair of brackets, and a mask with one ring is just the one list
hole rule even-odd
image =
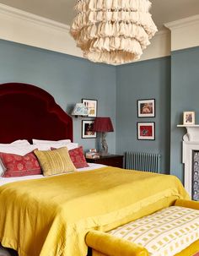
[[[0, 83], [35, 84], [71, 112], [82, 98], [98, 100], [98, 116], [111, 117], [114, 133], [107, 135], [111, 153], [126, 150], [162, 155], [162, 171], [183, 179], [181, 139], [176, 128], [183, 111], [195, 111], [199, 121], [199, 47], [172, 52], [171, 57], [118, 67], [90, 63], [66, 54], [0, 41]], [[137, 100], [153, 98], [156, 117], [137, 118]], [[89, 118], [83, 118], [89, 120]], [[74, 140], [85, 150], [98, 147], [95, 139], [81, 139], [82, 119], [73, 118]], [[155, 122], [154, 141], [137, 140], [137, 122]]]

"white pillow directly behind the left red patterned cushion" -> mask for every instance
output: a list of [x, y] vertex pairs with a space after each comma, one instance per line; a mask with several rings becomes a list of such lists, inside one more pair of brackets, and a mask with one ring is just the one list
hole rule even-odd
[[37, 149], [35, 144], [0, 144], [0, 152], [22, 156], [35, 149]]

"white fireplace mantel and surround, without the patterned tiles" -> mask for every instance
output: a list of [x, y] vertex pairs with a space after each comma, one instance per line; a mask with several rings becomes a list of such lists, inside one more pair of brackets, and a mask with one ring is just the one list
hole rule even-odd
[[199, 125], [190, 124], [177, 125], [179, 128], [186, 128], [187, 133], [183, 136], [182, 163], [185, 165], [184, 177], [186, 191], [192, 194], [192, 157], [193, 150], [199, 151]]

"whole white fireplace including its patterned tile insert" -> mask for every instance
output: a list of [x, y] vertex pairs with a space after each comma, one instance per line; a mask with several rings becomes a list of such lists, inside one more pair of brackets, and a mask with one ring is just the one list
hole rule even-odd
[[193, 200], [199, 201], [199, 125], [178, 125], [178, 127], [187, 130], [182, 143], [185, 188]]

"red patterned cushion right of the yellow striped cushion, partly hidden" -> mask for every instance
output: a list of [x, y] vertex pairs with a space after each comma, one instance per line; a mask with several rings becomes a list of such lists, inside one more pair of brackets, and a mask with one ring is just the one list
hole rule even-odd
[[73, 165], [76, 168], [83, 168], [89, 166], [83, 154], [82, 146], [78, 147], [77, 149], [69, 150], [68, 153], [71, 160], [73, 161]]

